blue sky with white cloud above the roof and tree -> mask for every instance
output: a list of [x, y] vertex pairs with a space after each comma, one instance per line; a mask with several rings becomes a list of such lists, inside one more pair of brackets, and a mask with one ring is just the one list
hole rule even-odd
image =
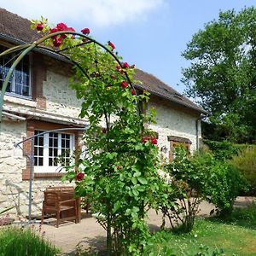
[[256, 0], [0, 0], [0, 7], [29, 20], [64, 22], [102, 44], [110, 40], [129, 64], [183, 93], [181, 53], [193, 34], [220, 10], [256, 6]]

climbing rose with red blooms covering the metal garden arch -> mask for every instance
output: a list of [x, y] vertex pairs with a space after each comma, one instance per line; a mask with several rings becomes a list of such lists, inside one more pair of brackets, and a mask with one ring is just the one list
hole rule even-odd
[[76, 63], [71, 87], [82, 100], [80, 117], [90, 124], [85, 152], [76, 156], [66, 178], [98, 212], [107, 230], [108, 255], [142, 255], [149, 236], [146, 212], [155, 206], [163, 183], [157, 173], [157, 138], [144, 128], [154, 114], [139, 109], [148, 102], [148, 92], [132, 86], [138, 83], [132, 79], [134, 65], [122, 61], [112, 42], [91, 43], [89, 28], [75, 33], [64, 23], [50, 27], [44, 18], [32, 20], [32, 28], [48, 37], [46, 47]]

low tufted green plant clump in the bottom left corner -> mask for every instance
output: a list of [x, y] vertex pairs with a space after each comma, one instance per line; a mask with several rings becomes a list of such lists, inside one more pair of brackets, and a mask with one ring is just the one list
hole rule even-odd
[[0, 230], [1, 256], [52, 256], [57, 253], [60, 251], [34, 229], [9, 227]]

